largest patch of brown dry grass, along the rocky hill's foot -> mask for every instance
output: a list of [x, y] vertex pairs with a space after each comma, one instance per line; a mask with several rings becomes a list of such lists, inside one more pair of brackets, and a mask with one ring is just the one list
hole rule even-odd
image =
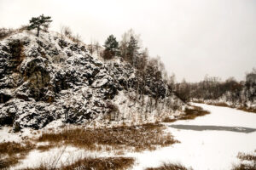
[[60, 133], [43, 133], [38, 141], [72, 144], [87, 150], [102, 150], [104, 147], [106, 150], [155, 150], [156, 146], [177, 142], [171, 133], [164, 132], [165, 128], [160, 124], [99, 129], [65, 128]]

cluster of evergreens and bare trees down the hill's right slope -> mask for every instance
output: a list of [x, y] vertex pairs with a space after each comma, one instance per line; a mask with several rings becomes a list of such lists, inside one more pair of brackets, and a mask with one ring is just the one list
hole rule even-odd
[[175, 76], [168, 77], [160, 57], [149, 57], [148, 49], [141, 48], [140, 43], [139, 36], [132, 30], [125, 32], [119, 42], [110, 35], [104, 44], [102, 58], [119, 58], [131, 65], [137, 78], [134, 82], [127, 82], [127, 87], [136, 89], [138, 94], [153, 97], [157, 105], [159, 99], [173, 94]]

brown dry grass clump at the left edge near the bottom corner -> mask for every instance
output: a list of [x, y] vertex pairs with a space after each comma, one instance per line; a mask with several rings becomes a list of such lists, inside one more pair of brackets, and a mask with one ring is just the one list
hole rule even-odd
[[4, 142], [0, 144], [0, 169], [8, 168], [24, 159], [26, 154], [34, 149], [35, 145], [29, 142], [25, 144]]

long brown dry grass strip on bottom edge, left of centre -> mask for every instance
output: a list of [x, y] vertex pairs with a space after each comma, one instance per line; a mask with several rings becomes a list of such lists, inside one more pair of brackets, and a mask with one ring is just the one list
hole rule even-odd
[[[55, 170], [125, 170], [134, 164], [131, 157], [102, 157], [102, 158], [84, 158], [73, 162], [67, 166], [54, 168]], [[49, 165], [41, 165], [35, 168], [25, 168], [24, 170], [48, 170]]]

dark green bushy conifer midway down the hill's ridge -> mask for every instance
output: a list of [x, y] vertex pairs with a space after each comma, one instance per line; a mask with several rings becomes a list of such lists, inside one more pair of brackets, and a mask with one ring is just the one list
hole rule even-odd
[[105, 50], [103, 54], [104, 59], [112, 59], [114, 55], [118, 54], [119, 42], [113, 35], [110, 35], [104, 44]]

